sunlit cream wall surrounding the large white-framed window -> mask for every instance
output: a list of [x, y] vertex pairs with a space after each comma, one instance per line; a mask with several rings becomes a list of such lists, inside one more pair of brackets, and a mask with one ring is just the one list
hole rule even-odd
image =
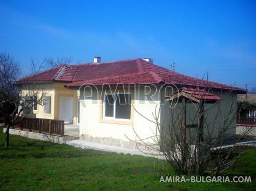
[[[89, 91], [89, 90], [88, 90]], [[143, 91], [141, 89], [141, 91]], [[96, 92], [94, 90], [94, 92]], [[83, 99], [83, 93], [81, 93], [80, 103], [80, 137], [93, 137], [93, 138], [104, 138], [108, 143], [117, 144], [119, 142], [128, 142], [129, 139], [135, 139], [135, 133], [140, 136], [141, 139], [149, 138], [155, 134], [155, 124], [149, 120], [154, 120], [152, 115], [155, 112], [155, 107], [159, 107], [160, 99], [158, 95], [152, 97], [153, 101], [144, 101], [143, 96], [139, 96], [138, 89], [131, 91], [134, 101], [133, 106], [136, 111], [133, 112], [133, 125], [121, 125], [114, 123], [100, 122], [99, 115], [101, 112], [101, 92], [97, 93], [97, 97], [94, 96], [91, 99]], [[133, 107], [131, 106], [131, 107]], [[132, 109], [132, 108], [131, 108]], [[144, 119], [141, 115], [149, 118]], [[101, 139], [102, 142], [103, 139]], [[95, 140], [94, 140], [95, 141]], [[99, 141], [97, 139], [96, 141]], [[148, 139], [147, 142], [152, 142], [152, 139]]]

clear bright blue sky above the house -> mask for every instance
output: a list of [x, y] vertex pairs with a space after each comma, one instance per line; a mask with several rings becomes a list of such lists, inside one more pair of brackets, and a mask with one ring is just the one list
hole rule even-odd
[[0, 52], [73, 63], [152, 58], [182, 74], [256, 87], [256, 1], [0, 1]]

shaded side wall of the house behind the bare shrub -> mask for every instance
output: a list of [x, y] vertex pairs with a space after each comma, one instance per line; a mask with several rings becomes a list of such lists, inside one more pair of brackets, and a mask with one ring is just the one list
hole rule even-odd
[[[237, 109], [237, 101], [235, 93], [220, 93], [214, 92], [215, 95], [219, 96], [221, 99], [218, 104], [204, 104], [205, 109], [205, 122], [204, 122], [204, 139], [213, 139], [218, 135], [218, 131], [222, 128], [227, 127], [224, 124], [224, 120], [227, 119], [226, 124], [228, 125], [228, 130], [225, 131], [226, 136], [233, 136], [236, 134], [236, 109]], [[198, 104], [188, 103], [186, 104], [186, 125], [196, 125], [197, 124], [197, 110]], [[211, 107], [211, 108], [210, 108]], [[176, 105], [178, 111], [181, 111], [181, 103]], [[209, 109], [210, 108], [210, 109]], [[231, 112], [230, 112], [231, 111]], [[229, 114], [230, 112], [230, 114]], [[169, 115], [169, 116], [168, 116]], [[162, 106], [161, 107], [161, 124], [168, 125], [168, 121], [170, 120], [171, 109], [170, 107]], [[178, 114], [176, 111], [173, 112], [173, 117], [176, 119]], [[216, 118], [216, 119], [215, 119]], [[230, 122], [230, 123], [229, 123]], [[208, 125], [208, 127], [206, 126]], [[168, 128], [168, 127], [166, 127]], [[168, 133], [168, 130], [167, 130]], [[196, 133], [196, 128], [186, 128], [186, 136], [189, 138], [189, 134], [191, 138], [193, 138], [193, 134]]]

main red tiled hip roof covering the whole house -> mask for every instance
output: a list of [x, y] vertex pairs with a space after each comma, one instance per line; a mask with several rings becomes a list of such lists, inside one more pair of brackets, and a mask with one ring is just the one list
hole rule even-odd
[[68, 82], [68, 87], [80, 87], [83, 84], [175, 84], [188, 87], [210, 87], [218, 90], [235, 90], [246, 93], [245, 89], [200, 80], [185, 76], [169, 69], [151, 64], [142, 59], [131, 59], [99, 64], [62, 65], [19, 82], [56, 81]]

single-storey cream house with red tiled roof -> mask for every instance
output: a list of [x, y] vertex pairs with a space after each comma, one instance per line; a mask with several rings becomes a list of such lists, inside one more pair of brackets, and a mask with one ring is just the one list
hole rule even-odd
[[[30, 84], [47, 90], [46, 104], [33, 109], [36, 117], [79, 123], [81, 139], [124, 147], [138, 137], [153, 137], [157, 133], [155, 120], [163, 127], [168, 123], [172, 103], [165, 98], [171, 96], [173, 88], [189, 90], [193, 96], [198, 88], [207, 89], [209, 97], [221, 99], [222, 115], [228, 115], [232, 102], [235, 113], [237, 93], [246, 93], [242, 88], [170, 71], [153, 64], [150, 58], [101, 63], [101, 58], [95, 57], [93, 63], [64, 64], [20, 79], [18, 84], [23, 91]], [[187, 107], [187, 115], [195, 115], [193, 104]], [[217, 108], [211, 112], [209, 121]], [[197, 122], [188, 119], [186, 123]], [[231, 123], [236, 125], [235, 120]], [[154, 142], [154, 138], [147, 141]]]

